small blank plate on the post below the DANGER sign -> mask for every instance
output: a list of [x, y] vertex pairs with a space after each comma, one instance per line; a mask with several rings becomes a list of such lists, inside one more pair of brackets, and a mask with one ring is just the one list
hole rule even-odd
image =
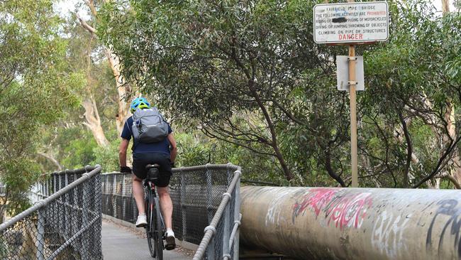
[[[363, 56], [355, 56], [355, 90], [365, 90], [365, 74], [363, 72]], [[348, 56], [336, 56], [336, 81], [338, 90], [349, 91], [349, 60]]]

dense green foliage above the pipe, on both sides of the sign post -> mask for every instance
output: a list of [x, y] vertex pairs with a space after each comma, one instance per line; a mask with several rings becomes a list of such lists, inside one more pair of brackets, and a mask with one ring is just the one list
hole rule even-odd
[[[112, 1], [99, 32], [126, 79], [183, 124], [246, 148], [252, 165], [276, 159], [272, 169], [291, 184], [346, 186], [349, 100], [335, 89], [346, 48], [313, 43], [314, 4]], [[460, 168], [460, 127], [448, 131], [461, 105], [460, 14], [441, 16], [428, 1], [389, 6], [389, 41], [357, 47], [360, 182], [418, 187]]]

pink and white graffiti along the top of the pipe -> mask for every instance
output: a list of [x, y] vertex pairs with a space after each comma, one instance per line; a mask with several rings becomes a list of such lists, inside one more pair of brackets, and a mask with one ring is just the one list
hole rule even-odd
[[[310, 209], [318, 218], [323, 212], [327, 224], [333, 222], [335, 227], [359, 228], [368, 208], [372, 206], [371, 193], [345, 193], [335, 188], [313, 188], [304, 195], [301, 202], [293, 205], [292, 221], [304, 215]], [[322, 215], [323, 215], [322, 214]]]

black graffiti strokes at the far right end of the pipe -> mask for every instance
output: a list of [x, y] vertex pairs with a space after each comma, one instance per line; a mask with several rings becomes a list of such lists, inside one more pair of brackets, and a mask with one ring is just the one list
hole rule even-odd
[[[440, 250], [442, 249], [443, 239], [445, 238], [445, 234], [449, 232], [452, 236], [455, 236], [455, 244], [454, 246], [457, 247], [457, 254], [458, 258], [461, 258], [461, 240], [460, 240], [460, 227], [461, 227], [461, 207], [457, 207], [457, 200], [440, 200], [437, 202], [437, 205], [440, 205], [438, 210], [435, 212], [435, 215], [432, 219], [431, 226], [428, 229], [428, 235], [426, 237], [426, 249], [430, 251], [432, 249], [432, 232], [434, 224], [436, 223], [435, 220], [439, 219], [438, 222], [442, 222], [440, 220], [440, 216], [445, 215], [448, 216], [448, 220], [446, 217], [443, 222], [443, 229], [442, 233], [440, 234], [440, 239], [438, 239], [438, 254], [440, 255]], [[450, 227], [450, 229], [448, 229]], [[438, 235], [436, 235], [438, 237]]]

